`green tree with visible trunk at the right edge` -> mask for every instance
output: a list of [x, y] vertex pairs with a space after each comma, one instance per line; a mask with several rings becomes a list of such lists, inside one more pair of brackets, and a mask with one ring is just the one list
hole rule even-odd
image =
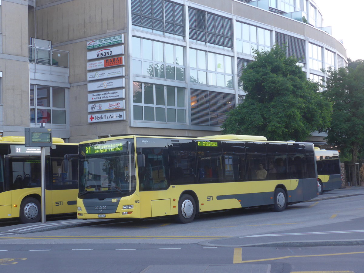
[[327, 74], [323, 94], [333, 103], [327, 141], [351, 154], [351, 180], [356, 183], [355, 163], [364, 144], [364, 64], [329, 69]]

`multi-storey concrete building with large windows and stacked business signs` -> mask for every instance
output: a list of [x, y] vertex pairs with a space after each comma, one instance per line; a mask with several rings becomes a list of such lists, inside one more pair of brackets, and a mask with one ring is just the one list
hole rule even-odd
[[219, 134], [253, 49], [285, 44], [316, 81], [347, 65], [310, 0], [2, 0], [0, 12], [4, 135], [39, 122], [70, 142]]

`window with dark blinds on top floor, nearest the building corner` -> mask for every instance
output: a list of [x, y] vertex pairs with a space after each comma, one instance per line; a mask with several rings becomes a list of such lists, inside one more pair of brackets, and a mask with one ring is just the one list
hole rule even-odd
[[184, 6], [164, 0], [131, 0], [135, 29], [181, 38], [185, 36]]

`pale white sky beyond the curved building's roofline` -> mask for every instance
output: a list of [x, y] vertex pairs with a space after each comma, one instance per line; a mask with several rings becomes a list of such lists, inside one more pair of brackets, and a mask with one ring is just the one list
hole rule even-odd
[[361, 0], [313, 0], [324, 18], [324, 27], [332, 27], [332, 36], [344, 40], [347, 57], [364, 59], [363, 11]]

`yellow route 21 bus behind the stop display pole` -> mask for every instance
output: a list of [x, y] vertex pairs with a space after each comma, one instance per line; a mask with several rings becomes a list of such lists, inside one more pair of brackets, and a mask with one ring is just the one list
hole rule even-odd
[[[78, 162], [65, 161], [64, 155], [77, 154], [78, 144], [64, 143], [61, 138], [53, 138], [52, 142], [52, 147], [45, 147], [46, 215], [75, 215]], [[21, 223], [39, 222], [40, 181], [40, 147], [25, 147], [24, 137], [1, 137], [0, 219], [18, 218]]]

